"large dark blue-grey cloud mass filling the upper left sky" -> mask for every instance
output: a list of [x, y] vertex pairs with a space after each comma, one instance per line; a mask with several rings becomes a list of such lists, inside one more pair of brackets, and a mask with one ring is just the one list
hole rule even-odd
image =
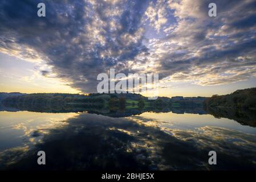
[[[95, 92], [99, 73], [122, 67], [125, 61], [147, 51], [141, 44], [143, 32], [138, 33], [146, 1], [116, 5], [111, 1], [40, 2], [46, 3], [45, 18], [37, 16], [39, 1], [1, 1], [0, 45], [5, 49], [17, 49], [16, 44], [34, 49], [74, 88]], [[117, 12], [119, 9], [123, 10]], [[112, 15], [114, 11], [116, 15]], [[115, 30], [117, 24], [120, 27]], [[136, 41], [124, 42], [123, 36]], [[42, 71], [42, 75], [47, 72]]]

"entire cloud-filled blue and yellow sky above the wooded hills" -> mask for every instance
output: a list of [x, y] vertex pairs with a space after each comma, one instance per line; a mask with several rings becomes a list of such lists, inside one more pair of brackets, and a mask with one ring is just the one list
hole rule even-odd
[[160, 96], [255, 87], [255, 19], [256, 0], [1, 0], [0, 92], [95, 93], [111, 68], [159, 73]]

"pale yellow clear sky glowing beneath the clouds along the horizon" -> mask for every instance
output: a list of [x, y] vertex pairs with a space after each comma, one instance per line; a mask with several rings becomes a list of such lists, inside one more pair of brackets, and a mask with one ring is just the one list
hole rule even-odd
[[[46, 67], [46, 64], [32, 63], [3, 53], [0, 53], [0, 58], [0, 92], [87, 94], [72, 88], [72, 86], [68, 85], [68, 82], [65, 82], [61, 78], [43, 76], [40, 73], [40, 67]], [[168, 88], [160, 87], [159, 97], [211, 97], [213, 94], [229, 94], [237, 89], [251, 88], [255, 85], [254, 83], [256, 83], [256, 79], [215, 86], [176, 82], [171, 85], [169, 84]], [[72, 85], [72, 83], [69, 84]], [[165, 85], [165, 83], [162, 83], [162, 85]], [[145, 97], [152, 96], [150, 92], [140, 94]]]

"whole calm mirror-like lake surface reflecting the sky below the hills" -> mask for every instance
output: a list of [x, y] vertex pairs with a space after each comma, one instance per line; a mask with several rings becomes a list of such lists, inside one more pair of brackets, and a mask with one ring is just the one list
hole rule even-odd
[[[255, 121], [172, 111], [127, 115], [1, 111], [0, 169], [256, 169]], [[36, 163], [39, 150], [45, 166]], [[210, 150], [217, 165], [208, 164]]]

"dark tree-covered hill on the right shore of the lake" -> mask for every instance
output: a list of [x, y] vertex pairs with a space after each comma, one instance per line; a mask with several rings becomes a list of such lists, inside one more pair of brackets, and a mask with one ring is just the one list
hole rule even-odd
[[214, 95], [204, 101], [205, 107], [233, 107], [256, 110], [256, 88], [237, 90], [225, 96]]

